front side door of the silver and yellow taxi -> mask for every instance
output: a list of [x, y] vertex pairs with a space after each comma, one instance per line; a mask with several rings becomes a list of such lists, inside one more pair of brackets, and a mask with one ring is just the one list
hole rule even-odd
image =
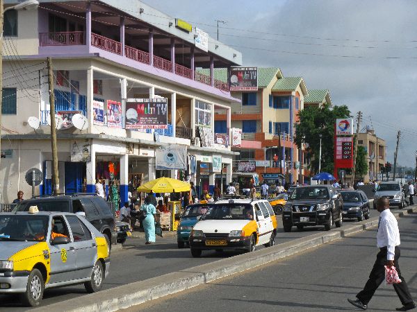
[[[51, 278], [49, 279], [49, 284], [74, 279], [74, 271], [76, 268], [75, 248], [67, 221], [63, 216], [54, 216], [51, 220], [54, 220], [54, 227], [51, 224], [48, 240], [49, 250], [51, 252]], [[70, 239], [70, 243], [53, 245], [51, 243], [52, 232], [67, 236]]]

